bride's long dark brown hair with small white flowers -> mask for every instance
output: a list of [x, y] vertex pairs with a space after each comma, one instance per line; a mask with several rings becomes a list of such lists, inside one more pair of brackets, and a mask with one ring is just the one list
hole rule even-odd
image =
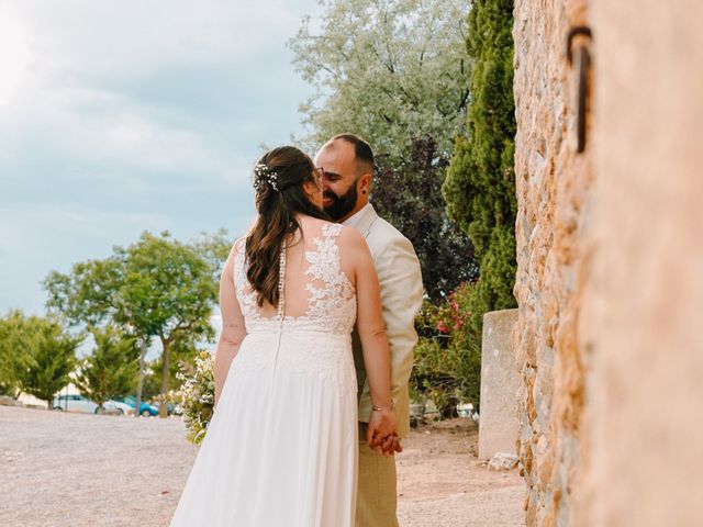
[[297, 214], [328, 220], [303, 190], [305, 181], [315, 182], [315, 165], [294, 146], [279, 146], [267, 152], [254, 169], [258, 216], [246, 237], [246, 278], [256, 301], [278, 304], [280, 250], [286, 239], [300, 229]]

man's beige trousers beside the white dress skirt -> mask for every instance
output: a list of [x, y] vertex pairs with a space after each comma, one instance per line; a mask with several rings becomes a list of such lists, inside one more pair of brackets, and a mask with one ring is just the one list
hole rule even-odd
[[366, 424], [359, 423], [359, 483], [356, 527], [398, 527], [395, 456], [379, 456], [364, 440]]

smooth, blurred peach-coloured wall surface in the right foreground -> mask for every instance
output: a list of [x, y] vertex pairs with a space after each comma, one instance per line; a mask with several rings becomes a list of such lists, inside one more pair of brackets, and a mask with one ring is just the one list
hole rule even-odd
[[[591, 0], [579, 526], [703, 525], [703, 3]], [[587, 441], [583, 441], [584, 444]]]

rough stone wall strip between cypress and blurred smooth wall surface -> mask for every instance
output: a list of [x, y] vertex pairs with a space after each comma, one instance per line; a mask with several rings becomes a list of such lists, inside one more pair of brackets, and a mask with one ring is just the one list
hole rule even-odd
[[515, 2], [515, 346], [527, 525], [569, 523], [580, 464], [584, 374], [577, 321], [593, 178], [589, 153], [576, 154], [576, 78], [565, 42], [585, 14], [582, 0]]

